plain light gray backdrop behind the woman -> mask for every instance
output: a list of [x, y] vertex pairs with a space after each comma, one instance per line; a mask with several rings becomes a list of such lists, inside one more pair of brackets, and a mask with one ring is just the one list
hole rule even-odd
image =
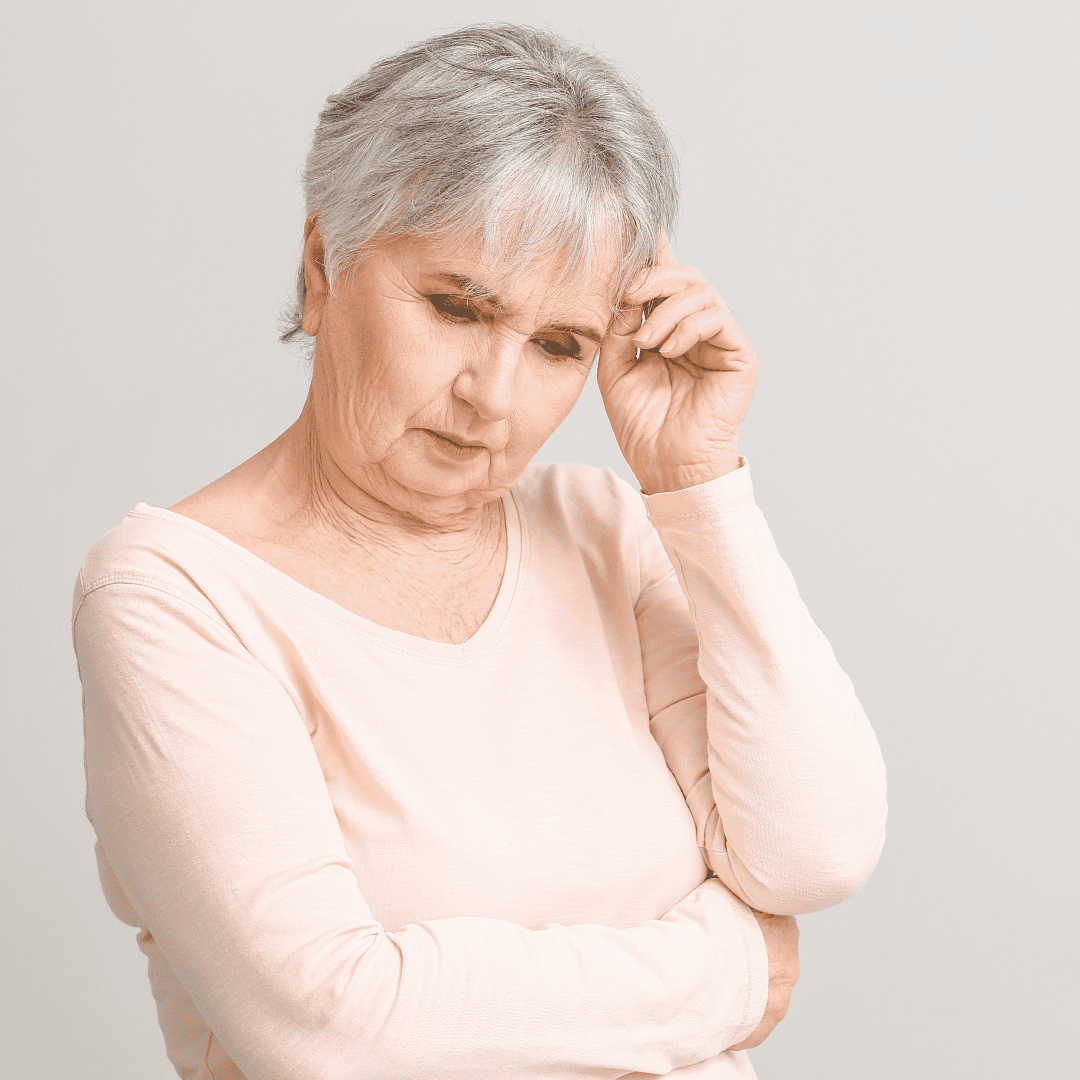
[[[885, 855], [800, 920], [761, 1080], [1071, 1074], [1077, 6], [941, 0], [6, 16], [5, 1068], [174, 1076], [82, 814], [76, 572], [298, 414], [275, 320], [325, 95], [492, 17], [623, 62], [673, 131], [676, 253], [761, 361], [759, 503], [889, 767]], [[633, 480], [595, 381], [540, 458]]]

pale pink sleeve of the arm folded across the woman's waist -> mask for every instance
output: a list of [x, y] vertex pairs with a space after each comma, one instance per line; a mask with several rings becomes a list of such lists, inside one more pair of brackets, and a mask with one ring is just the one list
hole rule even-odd
[[629, 930], [384, 930], [300, 713], [213, 608], [110, 581], [82, 597], [73, 635], [87, 816], [251, 1080], [665, 1074], [761, 1018], [761, 933], [714, 878]]

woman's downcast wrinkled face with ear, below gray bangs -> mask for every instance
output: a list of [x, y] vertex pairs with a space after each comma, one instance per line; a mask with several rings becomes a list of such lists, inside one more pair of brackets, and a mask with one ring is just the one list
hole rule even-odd
[[[610, 314], [603, 267], [573, 288], [551, 266], [497, 292], [477, 249], [399, 240], [322, 276], [307, 245], [320, 462], [438, 524], [501, 496], [573, 407]], [[457, 444], [465, 444], [460, 448]]]

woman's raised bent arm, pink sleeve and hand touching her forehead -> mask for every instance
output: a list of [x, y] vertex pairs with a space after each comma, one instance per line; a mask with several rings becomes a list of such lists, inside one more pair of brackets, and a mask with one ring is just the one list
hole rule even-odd
[[677, 576], [659, 555], [654, 572], [643, 567], [652, 731], [716, 876], [758, 910], [795, 915], [869, 876], [885, 841], [885, 766], [754, 503], [738, 435], [756, 372], [716, 291], [661, 238], [660, 265], [627, 294], [597, 367]]

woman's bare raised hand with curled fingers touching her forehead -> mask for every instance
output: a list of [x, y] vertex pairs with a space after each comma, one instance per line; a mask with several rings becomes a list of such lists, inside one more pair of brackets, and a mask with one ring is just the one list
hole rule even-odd
[[724, 300], [700, 270], [679, 266], [661, 232], [660, 262], [627, 291], [596, 367], [615, 436], [645, 495], [739, 467], [756, 378], [754, 349]]

